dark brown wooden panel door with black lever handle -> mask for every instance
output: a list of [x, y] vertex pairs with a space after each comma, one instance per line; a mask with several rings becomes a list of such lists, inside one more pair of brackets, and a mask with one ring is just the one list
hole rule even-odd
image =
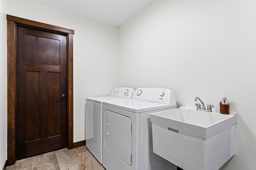
[[18, 26], [17, 159], [67, 146], [67, 37]]

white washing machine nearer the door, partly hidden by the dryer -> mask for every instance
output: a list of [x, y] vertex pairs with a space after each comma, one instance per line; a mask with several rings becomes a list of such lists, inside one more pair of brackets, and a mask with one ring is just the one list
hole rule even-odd
[[102, 102], [127, 100], [132, 98], [134, 89], [114, 88], [111, 96], [86, 98], [86, 147], [102, 164]]

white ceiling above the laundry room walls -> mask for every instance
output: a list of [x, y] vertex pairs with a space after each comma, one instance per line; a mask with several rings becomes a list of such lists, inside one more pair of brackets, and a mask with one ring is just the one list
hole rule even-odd
[[155, 0], [29, 0], [111, 25], [119, 26]]

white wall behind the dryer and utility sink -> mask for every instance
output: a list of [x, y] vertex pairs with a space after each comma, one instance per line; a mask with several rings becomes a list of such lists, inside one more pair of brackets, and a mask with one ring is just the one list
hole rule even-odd
[[120, 86], [170, 88], [178, 107], [199, 96], [239, 113], [236, 155], [222, 170], [256, 167], [256, 1], [156, 0], [119, 28]]

